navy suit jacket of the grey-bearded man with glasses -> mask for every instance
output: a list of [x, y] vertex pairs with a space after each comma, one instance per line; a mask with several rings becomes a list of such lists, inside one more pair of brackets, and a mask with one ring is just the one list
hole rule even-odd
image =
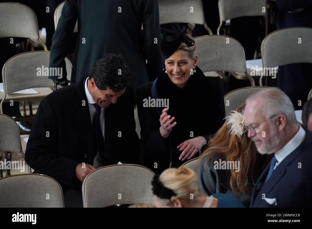
[[[257, 180], [252, 192], [252, 208], [293, 208], [312, 206], [312, 132], [305, 130], [305, 139], [275, 168], [266, 180], [270, 164]], [[301, 168], [300, 168], [301, 167]], [[275, 198], [276, 205], [265, 198]]]

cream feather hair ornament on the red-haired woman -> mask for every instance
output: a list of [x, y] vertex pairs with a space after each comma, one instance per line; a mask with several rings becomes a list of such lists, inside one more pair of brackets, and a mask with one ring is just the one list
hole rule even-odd
[[244, 117], [244, 109], [242, 112], [231, 111], [232, 113], [226, 116], [224, 119], [227, 121], [226, 125], [231, 127], [228, 131], [231, 135], [237, 135], [239, 139], [246, 132], [245, 129], [245, 117]]

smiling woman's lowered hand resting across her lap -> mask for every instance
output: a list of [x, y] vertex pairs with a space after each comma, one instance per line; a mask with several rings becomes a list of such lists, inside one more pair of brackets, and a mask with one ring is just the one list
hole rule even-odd
[[203, 136], [191, 138], [187, 141], [182, 142], [177, 148], [183, 150], [179, 157], [179, 160], [185, 160], [192, 158], [202, 146], [206, 145], [206, 139]]

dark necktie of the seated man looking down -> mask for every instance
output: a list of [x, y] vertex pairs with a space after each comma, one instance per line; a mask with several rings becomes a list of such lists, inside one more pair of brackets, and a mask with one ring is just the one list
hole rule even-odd
[[[105, 156], [106, 160], [106, 155], [104, 152], [104, 139], [101, 131], [101, 122], [100, 122], [100, 116], [101, 116], [101, 107], [97, 105], [96, 103], [93, 103], [93, 106], [95, 107], [95, 116], [93, 117], [93, 133], [95, 136], [95, 146], [96, 149], [99, 151], [100, 155]], [[104, 163], [104, 161], [102, 161]]]

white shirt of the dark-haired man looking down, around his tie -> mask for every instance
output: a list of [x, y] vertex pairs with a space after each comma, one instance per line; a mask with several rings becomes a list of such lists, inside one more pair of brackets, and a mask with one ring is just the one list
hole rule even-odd
[[[91, 118], [91, 125], [93, 124], [93, 117], [95, 116], [95, 107], [93, 106], [93, 104], [95, 103], [90, 92], [89, 92], [89, 89], [88, 89], [88, 86], [87, 86], [87, 83], [88, 83], [88, 80], [89, 80], [89, 77], [85, 80], [85, 94], [87, 96], [87, 100], [88, 100], [88, 105], [89, 105], [89, 111], [90, 111], [90, 118]], [[101, 109], [101, 114], [100, 114], [100, 124], [101, 124], [101, 131], [102, 131], [102, 135], [103, 135], [103, 140], [105, 139], [104, 137], [104, 125], [105, 125], [105, 122], [104, 122], [104, 108], [102, 107]], [[96, 157], [94, 158], [94, 161], [93, 161], [93, 165], [92, 165], [95, 169], [97, 168], [100, 168], [103, 166], [102, 162], [101, 162], [101, 158], [100, 158], [100, 154], [99, 154], [99, 151], [97, 151], [97, 155]]]

